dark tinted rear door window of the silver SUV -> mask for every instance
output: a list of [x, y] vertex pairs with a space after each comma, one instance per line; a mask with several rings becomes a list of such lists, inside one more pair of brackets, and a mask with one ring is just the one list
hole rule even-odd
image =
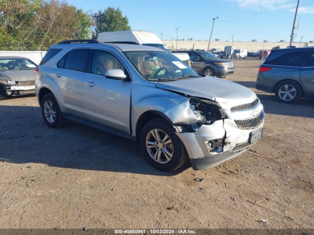
[[91, 52], [91, 49], [74, 49], [69, 51], [65, 58], [64, 69], [86, 72]]

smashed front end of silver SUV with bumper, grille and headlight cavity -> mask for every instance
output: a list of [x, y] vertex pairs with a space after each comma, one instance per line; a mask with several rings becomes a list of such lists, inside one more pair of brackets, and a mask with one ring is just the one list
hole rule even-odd
[[264, 111], [258, 98], [223, 109], [218, 103], [190, 98], [197, 118], [192, 131], [178, 131], [193, 169], [207, 169], [245, 152], [262, 137]]

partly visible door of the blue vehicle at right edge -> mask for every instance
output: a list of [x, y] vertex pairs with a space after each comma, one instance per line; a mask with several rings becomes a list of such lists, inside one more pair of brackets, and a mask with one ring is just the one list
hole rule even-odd
[[300, 68], [300, 79], [304, 86], [305, 96], [314, 97], [314, 51], [308, 52]]

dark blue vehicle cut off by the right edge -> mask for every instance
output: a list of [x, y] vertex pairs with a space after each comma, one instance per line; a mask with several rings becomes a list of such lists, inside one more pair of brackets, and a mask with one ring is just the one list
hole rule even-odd
[[283, 103], [314, 98], [314, 47], [272, 50], [260, 66], [256, 89], [275, 93]]

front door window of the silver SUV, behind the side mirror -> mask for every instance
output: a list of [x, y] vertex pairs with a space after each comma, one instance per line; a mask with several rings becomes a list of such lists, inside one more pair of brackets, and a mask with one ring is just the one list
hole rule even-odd
[[107, 70], [122, 70], [126, 73], [121, 62], [110, 52], [95, 50], [92, 60], [91, 73], [105, 76]]

